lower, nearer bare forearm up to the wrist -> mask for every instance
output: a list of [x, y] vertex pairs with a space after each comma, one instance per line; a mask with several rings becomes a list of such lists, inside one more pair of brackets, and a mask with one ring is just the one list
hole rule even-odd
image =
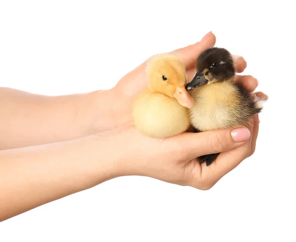
[[117, 176], [105, 146], [95, 135], [0, 151], [0, 221]]

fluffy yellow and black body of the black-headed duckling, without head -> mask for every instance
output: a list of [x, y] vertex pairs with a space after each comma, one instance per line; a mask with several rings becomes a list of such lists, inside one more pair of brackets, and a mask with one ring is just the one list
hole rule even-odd
[[244, 87], [232, 81], [216, 82], [189, 91], [195, 105], [189, 109], [192, 126], [199, 131], [239, 128], [262, 109]]

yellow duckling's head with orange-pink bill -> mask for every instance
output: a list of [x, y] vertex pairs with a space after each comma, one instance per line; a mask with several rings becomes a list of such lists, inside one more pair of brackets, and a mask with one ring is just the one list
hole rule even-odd
[[147, 65], [149, 89], [175, 98], [182, 106], [192, 107], [194, 101], [185, 89], [186, 71], [175, 55], [160, 54], [151, 57]]

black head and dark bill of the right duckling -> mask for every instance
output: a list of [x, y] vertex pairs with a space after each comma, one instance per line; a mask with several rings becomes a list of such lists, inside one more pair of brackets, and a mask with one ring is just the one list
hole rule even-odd
[[203, 51], [196, 60], [196, 73], [186, 85], [186, 90], [215, 82], [233, 80], [234, 62], [230, 52], [213, 47]]

